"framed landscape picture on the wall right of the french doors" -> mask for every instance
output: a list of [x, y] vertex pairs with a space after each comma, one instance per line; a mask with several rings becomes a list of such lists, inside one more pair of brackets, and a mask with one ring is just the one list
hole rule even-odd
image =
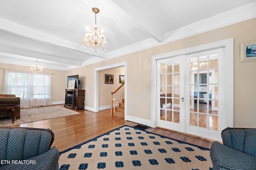
[[256, 41], [240, 44], [240, 62], [256, 61]]

